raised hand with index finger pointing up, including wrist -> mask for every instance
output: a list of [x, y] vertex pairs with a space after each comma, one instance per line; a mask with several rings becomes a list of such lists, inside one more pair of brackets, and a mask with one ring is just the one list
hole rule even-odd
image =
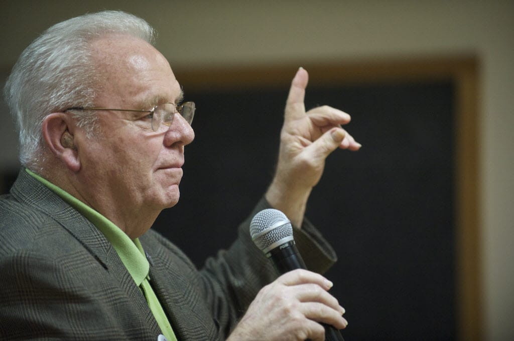
[[272, 207], [300, 227], [310, 191], [319, 182], [326, 157], [337, 148], [359, 150], [361, 145], [341, 125], [350, 115], [321, 106], [305, 111], [307, 71], [300, 68], [292, 80], [280, 135], [277, 172], [266, 193]]

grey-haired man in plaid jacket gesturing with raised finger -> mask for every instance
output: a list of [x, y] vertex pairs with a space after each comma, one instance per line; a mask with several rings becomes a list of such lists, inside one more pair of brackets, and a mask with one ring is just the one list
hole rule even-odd
[[[196, 270], [150, 230], [179, 199], [194, 103], [153, 30], [123, 12], [54, 25], [22, 53], [6, 86], [23, 165], [0, 200], [0, 338], [87, 340], [321, 340], [346, 326], [315, 272], [275, 278], [248, 222]], [[282, 210], [310, 268], [331, 247], [303, 222], [325, 158], [360, 145], [330, 107], [305, 112], [307, 72], [287, 99], [277, 173], [254, 212]]]

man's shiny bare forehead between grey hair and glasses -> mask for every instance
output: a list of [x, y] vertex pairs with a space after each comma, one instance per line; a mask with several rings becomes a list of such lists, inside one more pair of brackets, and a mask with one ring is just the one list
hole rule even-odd
[[105, 35], [91, 42], [91, 51], [100, 75], [97, 104], [108, 101], [142, 106], [155, 102], [155, 98], [174, 102], [181, 94], [166, 58], [142, 39]]

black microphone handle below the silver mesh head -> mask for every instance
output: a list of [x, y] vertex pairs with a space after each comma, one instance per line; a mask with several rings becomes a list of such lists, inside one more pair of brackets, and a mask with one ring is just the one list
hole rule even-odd
[[[281, 274], [296, 269], [305, 269], [305, 263], [295, 244], [295, 240], [290, 240], [279, 247], [276, 247], [266, 253], [266, 257], [270, 258], [275, 269]], [[321, 323], [325, 328], [325, 341], [344, 341], [341, 332], [332, 325]]]

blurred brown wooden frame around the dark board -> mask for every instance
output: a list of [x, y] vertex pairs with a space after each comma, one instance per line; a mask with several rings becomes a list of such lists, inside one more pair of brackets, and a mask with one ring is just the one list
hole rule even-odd
[[[479, 174], [479, 61], [450, 56], [304, 63], [317, 85], [450, 79], [455, 85], [456, 332], [461, 341], [481, 340], [482, 269]], [[174, 68], [186, 90], [289, 87], [298, 65]]]

